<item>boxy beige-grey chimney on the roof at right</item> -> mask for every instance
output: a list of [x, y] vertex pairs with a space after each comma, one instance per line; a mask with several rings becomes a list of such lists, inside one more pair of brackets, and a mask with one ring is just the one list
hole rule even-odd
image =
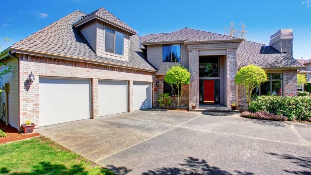
[[281, 29], [270, 36], [269, 45], [281, 53], [293, 56], [293, 40], [294, 35], [292, 29]]

